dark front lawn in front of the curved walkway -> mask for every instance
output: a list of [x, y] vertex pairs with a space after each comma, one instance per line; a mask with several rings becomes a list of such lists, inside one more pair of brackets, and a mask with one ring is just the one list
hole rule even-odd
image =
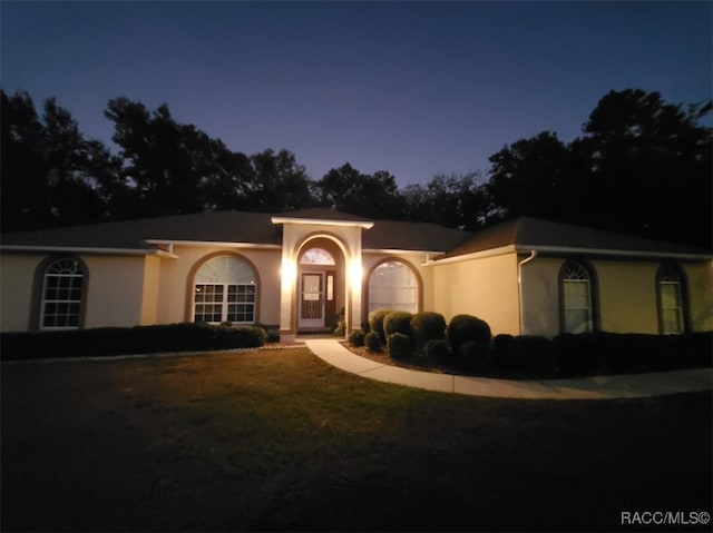
[[711, 394], [477, 398], [294, 348], [3, 365], [1, 399], [4, 531], [631, 531], [623, 511], [711, 511]]

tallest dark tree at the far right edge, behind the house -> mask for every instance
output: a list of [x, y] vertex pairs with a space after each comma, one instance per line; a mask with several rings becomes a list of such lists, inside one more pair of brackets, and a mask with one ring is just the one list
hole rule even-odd
[[658, 92], [604, 96], [573, 151], [589, 164], [588, 211], [609, 229], [711, 246], [711, 103], [665, 103]]

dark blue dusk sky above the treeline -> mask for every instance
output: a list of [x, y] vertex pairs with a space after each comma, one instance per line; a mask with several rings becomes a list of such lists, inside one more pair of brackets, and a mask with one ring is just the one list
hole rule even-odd
[[233, 150], [287, 148], [400, 185], [569, 141], [612, 89], [712, 97], [711, 2], [0, 2], [7, 91], [56, 96], [88, 137], [126, 96]]

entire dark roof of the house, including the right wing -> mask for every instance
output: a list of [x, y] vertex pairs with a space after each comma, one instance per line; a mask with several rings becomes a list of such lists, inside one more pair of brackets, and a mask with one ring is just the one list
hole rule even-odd
[[[330, 209], [305, 209], [274, 216], [267, 213], [217, 211], [104, 223], [88, 226], [4, 234], [0, 248], [76, 249], [150, 254], [160, 243], [231, 243], [256, 246], [282, 244], [277, 224], [329, 220], [364, 228], [362, 248], [443, 253], [437, 261], [458, 260], [499, 248], [550, 254], [602, 254], [622, 257], [710, 258], [711, 253], [690, 246], [632, 235], [521, 217], [471, 234], [436, 224], [369, 220]], [[371, 228], [371, 229], [367, 229]]]

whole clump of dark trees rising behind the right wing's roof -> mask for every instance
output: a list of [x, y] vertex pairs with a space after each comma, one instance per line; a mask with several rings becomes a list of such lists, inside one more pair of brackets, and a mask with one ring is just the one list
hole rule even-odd
[[490, 157], [498, 218], [521, 215], [711, 247], [711, 103], [665, 103], [657, 92], [611, 91], [584, 136], [520, 139]]

